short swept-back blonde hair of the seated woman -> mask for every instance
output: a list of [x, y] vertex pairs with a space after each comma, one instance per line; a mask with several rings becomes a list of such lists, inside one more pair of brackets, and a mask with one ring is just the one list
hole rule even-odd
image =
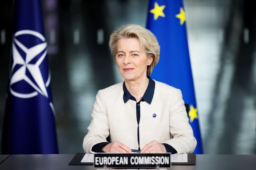
[[147, 67], [147, 74], [150, 75], [158, 63], [160, 55], [160, 46], [156, 36], [139, 25], [129, 24], [122, 26], [110, 35], [109, 48], [114, 58], [116, 58], [117, 54], [117, 42], [122, 38], [138, 38], [141, 45], [140, 49], [143, 49], [148, 56], [153, 57], [152, 63]]

